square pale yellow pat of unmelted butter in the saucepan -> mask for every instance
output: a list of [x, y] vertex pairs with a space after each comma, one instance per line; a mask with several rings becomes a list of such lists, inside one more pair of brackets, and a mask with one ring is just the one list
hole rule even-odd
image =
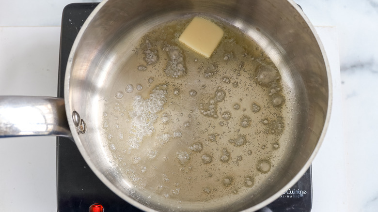
[[194, 17], [178, 40], [209, 58], [222, 37], [223, 30], [216, 24], [201, 17]]

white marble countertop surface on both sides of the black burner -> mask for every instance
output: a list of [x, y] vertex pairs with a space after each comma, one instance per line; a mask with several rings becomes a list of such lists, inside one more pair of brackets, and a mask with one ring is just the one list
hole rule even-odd
[[[56, 96], [65, 5], [0, 0], [0, 95]], [[378, 0], [296, 0], [324, 42], [337, 107], [313, 163], [313, 212], [378, 208]], [[56, 211], [55, 137], [0, 140], [1, 211]]]

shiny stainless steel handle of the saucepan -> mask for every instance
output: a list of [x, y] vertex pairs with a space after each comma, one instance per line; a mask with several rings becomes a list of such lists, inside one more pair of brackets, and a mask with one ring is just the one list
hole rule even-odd
[[64, 99], [0, 96], [0, 137], [71, 137]]

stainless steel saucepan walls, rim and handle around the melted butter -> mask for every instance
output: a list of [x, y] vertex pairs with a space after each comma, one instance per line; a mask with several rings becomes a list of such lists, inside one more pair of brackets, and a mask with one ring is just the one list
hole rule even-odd
[[[114, 96], [122, 80], [135, 77], [124, 67], [137, 64], [124, 64], [124, 57], [149, 29], [191, 14], [221, 17], [252, 37], [295, 97], [292, 119], [285, 121], [282, 157], [266, 182], [243, 197], [207, 202], [151, 197], [127, 179], [106, 150], [100, 102]], [[131, 37], [134, 43], [121, 37]], [[331, 79], [323, 46], [293, 0], [104, 0], [88, 17], [72, 47], [64, 99], [0, 97], [0, 136], [72, 138], [97, 177], [119, 197], [145, 211], [255, 211], [278, 198], [309, 168], [325, 136], [330, 108]]]

